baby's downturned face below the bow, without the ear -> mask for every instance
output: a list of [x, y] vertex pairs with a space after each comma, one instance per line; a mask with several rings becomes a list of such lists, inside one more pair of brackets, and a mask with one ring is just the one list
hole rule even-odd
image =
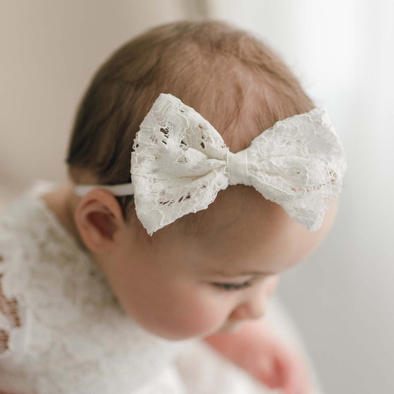
[[[187, 339], [258, 319], [276, 276], [305, 259], [332, 227], [338, 203], [317, 232], [308, 232], [247, 189], [224, 215], [212, 209], [206, 236], [176, 236], [171, 225], [152, 237], [131, 228], [118, 236], [106, 276], [136, 323], [160, 337]], [[212, 204], [221, 203], [219, 193]]]

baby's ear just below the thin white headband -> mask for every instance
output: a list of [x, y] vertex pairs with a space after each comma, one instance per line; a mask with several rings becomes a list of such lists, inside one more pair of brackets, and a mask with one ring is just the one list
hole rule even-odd
[[109, 250], [115, 233], [125, 225], [118, 200], [104, 189], [93, 189], [83, 196], [74, 219], [79, 235], [92, 252]]

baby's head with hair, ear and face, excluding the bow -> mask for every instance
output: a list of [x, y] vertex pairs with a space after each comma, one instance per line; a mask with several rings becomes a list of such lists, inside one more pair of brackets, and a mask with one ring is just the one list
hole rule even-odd
[[[160, 93], [191, 106], [236, 153], [275, 122], [315, 105], [281, 59], [223, 21], [158, 26], [117, 50], [93, 77], [68, 150], [75, 184], [131, 182], [135, 133]], [[309, 232], [253, 187], [232, 185], [205, 210], [152, 236], [133, 196], [93, 189], [73, 195], [78, 236], [124, 310], [168, 339], [226, 330], [263, 315], [276, 276], [328, 234], [337, 203]]]

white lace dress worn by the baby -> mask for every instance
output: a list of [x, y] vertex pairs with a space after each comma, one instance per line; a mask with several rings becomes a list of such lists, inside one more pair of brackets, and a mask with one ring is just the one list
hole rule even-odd
[[0, 392], [265, 393], [203, 341], [126, 317], [38, 189], [0, 210]]

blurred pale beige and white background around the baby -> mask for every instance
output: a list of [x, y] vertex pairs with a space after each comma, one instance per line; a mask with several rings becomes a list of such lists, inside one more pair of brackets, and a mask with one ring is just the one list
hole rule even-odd
[[279, 53], [344, 142], [328, 238], [283, 274], [325, 393], [394, 393], [394, 1], [0, 0], [0, 201], [65, 180], [75, 109], [115, 48], [184, 18], [232, 21]]

